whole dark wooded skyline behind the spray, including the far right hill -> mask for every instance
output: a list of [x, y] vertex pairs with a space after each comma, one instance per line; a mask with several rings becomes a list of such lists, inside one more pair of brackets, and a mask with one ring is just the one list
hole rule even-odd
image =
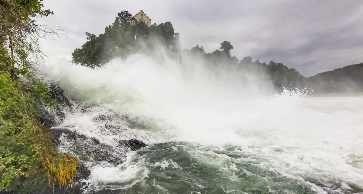
[[[203, 46], [181, 49], [179, 38], [174, 37], [174, 28], [170, 22], [153, 24], [148, 27], [144, 22], [130, 25], [132, 15], [128, 11], [118, 13], [112, 25], [105, 27], [105, 32], [96, 36], [86, 32], [87, 41], [72, 53], [72, 61], [77, 65], [91, 68], [101, 67], [115, 57], [126, 57], [131, 53], [142, 52], [155, 55], [158, 45], [168, 50], [169, 56], [181, 58], [181, 55], [199, 57], [213, 68], [224, 65], [230, 69], [239, 69], [261, 75], [261, 79], [272, 82], [276, 89], [307, 86], [315, 93], [362, 91], [362, 64], [351, 65], [342, 69], [325, 72], [309, 78], [300, 72], [288, 68], [282, 63], [270, 61], [268, 64], [253, 61], [251, 57], [239, 60], [231, 56], [233, 45], [229, 41], [220, 43], [220, 48], [206, 53]], [[137, 40], [137, 41], [136, 41]]]

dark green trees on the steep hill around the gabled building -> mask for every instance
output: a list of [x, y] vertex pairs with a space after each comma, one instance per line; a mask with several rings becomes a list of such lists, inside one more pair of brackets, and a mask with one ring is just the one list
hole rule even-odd
[[154, 48], [154, 40], [159, 40], [170, 50], [177, 50], [174, 28], [170, 22], [148, 27], [144, 22], [130, 25], [131, 18], [128, 11], [122, 11], [99, 36], [86, 32], [87, 42], [72, 52], [72, 62], [92, 68], [101, 67], [114, 57], [150, 52]]

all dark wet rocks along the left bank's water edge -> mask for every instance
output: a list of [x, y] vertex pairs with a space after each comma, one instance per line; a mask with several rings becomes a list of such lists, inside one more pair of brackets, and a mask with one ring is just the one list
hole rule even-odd
[[[77, 133], [72, 130], [72, 126], [60, 126], [63, 119], [66, 118], [64, 113], [65, 109], [70, 109], [74, 104], [65, 96], [64, 92], [56, 84], [48, 84], [48, 92], [50, 92], [54, 99], [58, 100], [56, 107], [57, 111], [51, 111], [47, 107], [41, 105], [43, 115], [41, 122], [44, 126], [48, 127], [48, 135], [52, 143], [58, 146], [60, 150], [71, 152], [82, 164], [77, 167], [76, 178], [72, 188], [60, 189], [57, 186], [49, 185], [47, 177], [34, 177], [25, 178], [24, 180], [16, 181], [15, 190], [12, 192], [1, 192], [0, 194], [82, 194], [84, 189], [87, 189], [87, 180], [91, 174], [91, 167], [102, 162], [107, 165], [118, 166], [125, 162], [125, 155], [129, 151], [136, 151], [146, 145], [143, 141], [135, 138], [120, 139], [117, 145], [110, 146], [99, 139], [88, 137], [84, 134]], [[78, 107], [77, 107], [78, 108]], [[82, 112], [87, 112], [90, 107], [79, 107]], [[93, 118], [95, 122], [104, 122], [104, 128], [109, 130], [116, 130], [120, 126], [107, 124], [108, 120], [112, 120], [112, 116], [101, 114]], [[127, 130], [127, 129], [119, 129]], [[116, 133], [115, 132], [115, 133]], [[64, 147], [62, 142], [71, 143], [71, 146]], [[29, 189], [31, 188], [31, 189]], [[101, 192], [103, 193], [103, 192]]]

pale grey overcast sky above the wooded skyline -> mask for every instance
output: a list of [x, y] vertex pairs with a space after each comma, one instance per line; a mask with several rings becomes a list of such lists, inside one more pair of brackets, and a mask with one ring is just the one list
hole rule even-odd
[[363, 0], [44, 0], [53, 16], [39, 20], [67, 37], [43, 41], [48, 60], [70, 59], [112, 24], [118, 12], [143, 10], [152, 23], [170, 21], [182, 47], [206, 52], [230, 41], [239, 59], [282, 62], [304, 76], [363, 62]]

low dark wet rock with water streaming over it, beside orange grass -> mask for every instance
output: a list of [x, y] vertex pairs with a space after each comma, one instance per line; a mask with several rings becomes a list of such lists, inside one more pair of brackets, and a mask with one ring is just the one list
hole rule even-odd
[[[104, 119], [100, 117], [100, 119]], [[42, 185], [40, 183], [34, 183], [36, 187], [39, 186], [41, 188], [38, 189], [38, 194], [81, 194], [81, 188], [87, 188], [88, 185], [86, 183], [80, 181], [81, 179], [87, 179], [90, 175], [91, 171], [89, 168], [92, 168], [94, 165], [97, 165], [102, 162], [107, 162], [112, 166], [118, 166], [122, 164], [124, 159], [126, 158], [126, 153], [130, 150], [135, 151], [139, 150], [145, 146], [147, 146], [144, 142], [137, 140], [137, 139], [130, 139], [130, 140], [121, 140], [117, 146], [110, 146], [108, 144], [104, 144], [100, 142], [98, 139], [94, 137], [88, 137], [83, 134], [79, 134], [75, 131], [72, 131], [67, 128], [50, 128], [48, 130], [49, 137], [51, 138], [53, 144], [55, 146], [67, 146], [66, 149], [71, 153], [74, 153], [77, 158], [82, 162], [90, 162], [91, 166], [80, 165], [77, 167], [77, 176], [75, 178], [75, 184], [72, 188], [69, 189], [59, 189], [50, 187], [49, 185]], [[70, 144], [62, 144], [61, 136], [64, 135], [64, 140]], [[89, 168], [88, 168], [89, 167]], [[31, 184], [29, 184], [31, 185]], [[28, 186], [29, 186], [28, 185]], [[25, 187], [25, 185], [23, 186]], [[101, 192], [102, 193], [102, 192]], [[29, 194], [32, 194], [31, 192]]]

